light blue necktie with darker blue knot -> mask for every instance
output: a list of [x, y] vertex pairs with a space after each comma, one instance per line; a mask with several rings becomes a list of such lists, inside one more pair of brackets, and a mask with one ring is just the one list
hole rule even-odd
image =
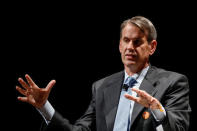
[[132, 94], [131, 88], [137, 82], [134, 78], [128, 77], [128, 82], [123, 85], [118, 110], [116, 114], [115, 124], [113, 131], [129, 131], [130, 129], [130, 100], [125, 98], [124, 94]]

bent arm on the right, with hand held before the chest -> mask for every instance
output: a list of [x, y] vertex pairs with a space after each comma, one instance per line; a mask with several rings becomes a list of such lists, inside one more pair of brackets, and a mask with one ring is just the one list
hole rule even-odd
[[[133, 89], [139, 96], [132, 97], [125, 95], [130, 100], [133, 100], [144, 107], [148, 107], [153, 111], [153, 114], [160, 117], [162, 112], [162, 126], [164, 131], [187, 131], [189, 128], [189, 114], [191, 108], [189, 105], [189, 85], [187, 78], [182, 75], [172, 76], [161, 103], [147, 92], [143, 90]], [[154, 111], [158, 111], [154, 112]]]

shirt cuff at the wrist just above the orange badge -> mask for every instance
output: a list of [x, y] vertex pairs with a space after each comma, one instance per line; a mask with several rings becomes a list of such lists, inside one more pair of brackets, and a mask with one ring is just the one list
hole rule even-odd
[[166, 117], [166, 111], [161, 105], [161, 109], [151, 109], [151, 112], [157, 122], [161, 122]]

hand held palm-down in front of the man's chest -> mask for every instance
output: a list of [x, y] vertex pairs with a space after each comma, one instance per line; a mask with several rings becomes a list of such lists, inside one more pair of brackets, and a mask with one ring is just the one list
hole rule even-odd
[[151, 95], [149, 95], [146, 91], [143, 90], [139, 90], [136, 88], [132, 88], [132, 91], [135, 91], [139, 97], [134, 97], [131, 96], [129, 94], [125, 94], [125, 97], [129, 100], [133, 100], [139, 104], [141, 104], [144, 107], [150, 108], [150, 109], [159, 109], [160, 111], [163, 112], [162, 106], [160, 104], [160, 102], [152, 97]]

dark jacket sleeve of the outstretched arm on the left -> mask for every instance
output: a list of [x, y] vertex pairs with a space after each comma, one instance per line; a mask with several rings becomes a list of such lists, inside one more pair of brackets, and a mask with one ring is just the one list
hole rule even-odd
[[55, 112], [52, 120], [48, 125], [42, 124], [41, 131], [91, 131], [95, 130], [95, 90], [92, 88], [92, 100], [84, 115], [78, 119], [75, 124], [71, 124], [69, 120], [63, 118], [61, 114]]

